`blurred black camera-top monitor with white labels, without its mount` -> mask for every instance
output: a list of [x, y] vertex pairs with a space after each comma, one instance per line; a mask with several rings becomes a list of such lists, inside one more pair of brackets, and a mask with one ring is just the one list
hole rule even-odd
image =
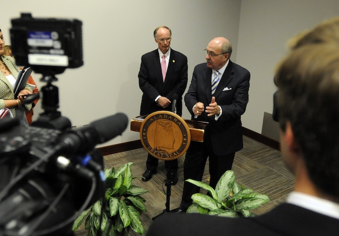
[[11, 23], [12, 54], [18, 65], [30, 65], [37, 73], [60, 74], [84, 64], [80, 20], [33, 18], [21, 13]]

